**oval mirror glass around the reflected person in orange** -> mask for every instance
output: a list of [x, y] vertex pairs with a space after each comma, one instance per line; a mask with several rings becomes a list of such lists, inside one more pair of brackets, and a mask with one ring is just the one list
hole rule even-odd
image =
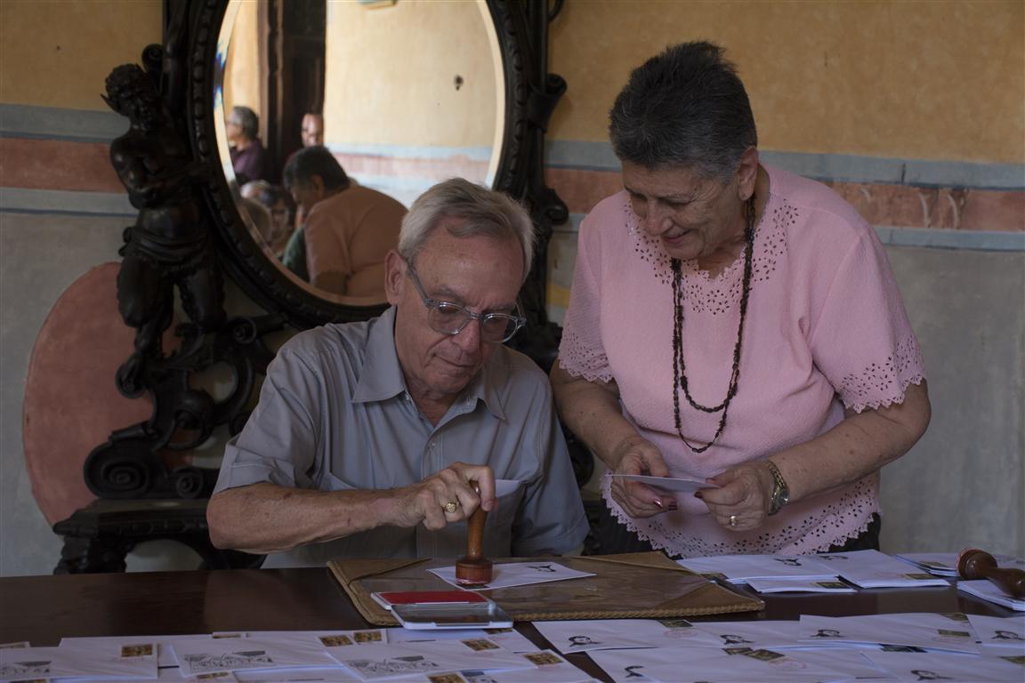
[[[407, 208], [453, 176], [493, 185], [505, 91], [485, 0], [231, 0], [216, 62], [218, 155], [239, 214], [254, 245], [312, 296], [353, 306], [384, 301], [383, 283], [380, 296], [351, 297], [315, 288], [283, 263], [291, 259], [294, 267], [286, 247], [301, 217], [281, 191], [281, 173], [303, 145], [305, 115], [320, 115], [322, 143], [353, 180]], [[285, 197], [277, 205], [241, 197], [240, 180], [247, 178], [233, 166], [238, 140], [225, 125], [236, 106], [257, 116], [258, 143], [271, 166], [266, 181]]]

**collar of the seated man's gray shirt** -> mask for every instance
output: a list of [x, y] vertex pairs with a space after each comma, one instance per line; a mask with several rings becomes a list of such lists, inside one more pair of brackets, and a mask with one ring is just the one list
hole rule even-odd
[[[363, 370], [353, 392], [355, 402], [386, 400], [407, 390], [402, 367], [399, 365], [399, 353], [395, 348], [396, 310], [395, 306], [391, 306], [380, 317], [370, 322]], [[460, 414], [468, 413], [481, 400], [492, 415], [504, 420], [505, 412], [498, 389], [508, 379], [507, 352], [504, 348], [496, 348], [478, 376], [452, 403], [452, 408], [457, 409]]]

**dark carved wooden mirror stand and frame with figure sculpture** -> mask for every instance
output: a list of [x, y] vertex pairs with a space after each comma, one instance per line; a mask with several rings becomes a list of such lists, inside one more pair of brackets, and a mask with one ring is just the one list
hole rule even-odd
[[[547, 73], [545, 0], [487, 0], [504, 74], [505, 116], [494, 186], [530, 208], [537, 253], [521, 300], [528, 318], [516, 345], [547, 370], [560, 329], [545, 312], [546, 246], [566, 206], [544, 184], [544, 131], [566, 89]], [[220, 172], [215, 81], [218, 31], [228, 0], [166, 2], [163, 45], [141, 65], [116, 68], [105, 100], [128, 119], [111, 144], [111, 161], [138, 209], [124, 231], [118, 303], [135, 329], [135, 348], [117, 373], [121, 393], [148, 395], [151, 416], [111, 433], [89, 455], [84, 476], [98, 500], [57, 522], [65, 538], [56, 572], [118, 571], [135, 544], [172, 539], [194, 548], [208, 567], [250, 566], [252, 556], [218, 553], [206, 530], [206, 500], [216, 470], [182, 459], [218, 430], [238, 433], [254, 401], [258, 378], [273, 357], [264, 337], [286, 327], [366, 319], [384, 304], [346, 305], [320, 297], [290, 278], [256, 244]], [[230, 315], [224, 280], [264, 310]], [[165, 348], [175, 302], [188, 319]], [[231, 390], [217, 398], [201, 387], [204, 374], [227, 369]], [[575, 451], [578, 480], [590, 456]]]

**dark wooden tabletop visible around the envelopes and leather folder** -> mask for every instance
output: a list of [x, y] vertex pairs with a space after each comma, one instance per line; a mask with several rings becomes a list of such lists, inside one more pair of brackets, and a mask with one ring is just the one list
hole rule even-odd
[[[748, 589], [738, 589], [748, 592]], [[753, 593], [750, 593], [753, 595]], [[954, 588], [876, 589], [846, 595], [758, 596], [758, 612], [692, 621], [796, 620], [893, 612], [1015, 612]], [[56, 645], [63, 637], [144, 636], [214, 631], [320, 631], [367, 624], [325, 569], [229, 569], [67, 574], [0, 579], [0, 643]], [[517, 628], [539, 647], [550, 644], [530, 624]], [[610, 680], [583, 652], [567, 656]]]

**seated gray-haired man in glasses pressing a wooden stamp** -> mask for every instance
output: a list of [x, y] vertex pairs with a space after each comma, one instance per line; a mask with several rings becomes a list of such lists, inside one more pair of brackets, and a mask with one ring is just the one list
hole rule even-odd
[[465, 180], [420, 197], [387, 255], [392, 307], [301, 333], [271, 364], [210, 500], [214, 545], [272, 553], [264, 566], [456, 557], [482, 507], [487, 555], [579, 547], [547, 380], [502, 345], [532, 236], [520, 206]]

